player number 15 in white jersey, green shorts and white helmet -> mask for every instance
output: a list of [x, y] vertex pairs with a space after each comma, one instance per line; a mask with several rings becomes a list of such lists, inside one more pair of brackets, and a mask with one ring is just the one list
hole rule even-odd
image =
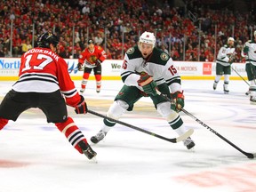
[[[141, 97], [150, 97], [159, 114], [175, 132], [182, 135], [188, 130], [179, 115], [180, 109], [184, 107], [180, 75], [173, 65], [172, 58], [157, 49], [155, 44], [154, 34], [146, 31], [140, 36], [138, 45], [125, 53], [121, 69], [124, 86], [108, 108], [107, 116], [117, 120], [125, 111], [132, 111], [134, 103]], [[158, 95], [156, 89], [172, 99], [174, 104]], [[104, 118], [100, 132], [92, 136], [92, 142], [98, 143], [102, 140], [115, 124], [116, 122]], [[188, 149], [195, 146], [190, 137], [183, 142]]]

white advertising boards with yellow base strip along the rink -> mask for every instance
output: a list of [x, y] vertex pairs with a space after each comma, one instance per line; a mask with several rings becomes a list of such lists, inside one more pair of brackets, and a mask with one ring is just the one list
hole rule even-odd
[[[83, 71], [78, 71], [77, 59], [67, 59], [68, 72], [73, 80], [81, 80]], [[214, 79], [216, 73], [215, 62], [195, 62], [195, 61], [173, 61], [175, 68], [180, 73], [182, 79]], [[123, 60], [104, 60], [102, 62], [102, 79], [119, 80], [120, 68]], [[231, 66], [230, 79], [241, 80], [240, 76], [247, 79], [244, 63], [233, 63]], [[17, 80], [20, 68], [20, 58], [0, 58], [0, 81]], [[236, 70], [236, 71], [235, 71]], [[238, 76], [237, 73], [240, 75]], [[93, 72], [90, 76], [94, 79]]]

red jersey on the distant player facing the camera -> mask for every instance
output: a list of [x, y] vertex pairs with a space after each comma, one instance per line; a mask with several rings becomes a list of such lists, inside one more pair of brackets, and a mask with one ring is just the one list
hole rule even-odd
[[81, 52], [78, 58], [79, 63], [83, 63], [86, 68], [95, 68], [96, 60], [103, 62], [107, 58], [107, 53], [100, 47], [95, 45], [93, 52], [90, 52], [88, 47]]

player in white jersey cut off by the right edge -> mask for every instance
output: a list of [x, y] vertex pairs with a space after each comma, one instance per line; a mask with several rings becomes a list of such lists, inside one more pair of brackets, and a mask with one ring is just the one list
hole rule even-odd
[[251, 104], [256, 104], [256, 30], [253, 33], [252, 40], [244, 44], [243, 52], [246, 57], [245, 70], [248, 80], [250, 81], [250, 101]]

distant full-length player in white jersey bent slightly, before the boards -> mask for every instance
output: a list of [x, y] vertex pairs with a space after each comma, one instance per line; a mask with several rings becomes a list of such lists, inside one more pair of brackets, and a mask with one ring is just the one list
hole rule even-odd
[[228, 38], [228, 44], [224, 44], [217, 55], [216, 60], [216, 76], [213, 83], [213, 90], [216, 90], [217, 84], [220, 81], [221, 76], [224, 75], [223, 91], [228, 94], [229, 76], [231, 74], [231, 64], [235, 59], [235, 39], [233, 37]]

